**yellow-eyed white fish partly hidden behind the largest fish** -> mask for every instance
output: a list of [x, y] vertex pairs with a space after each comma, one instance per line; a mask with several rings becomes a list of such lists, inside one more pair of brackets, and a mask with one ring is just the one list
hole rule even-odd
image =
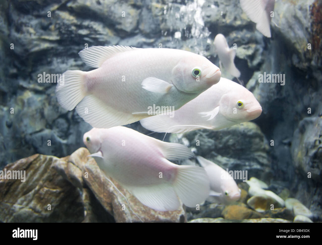
[[261, 112], [260, 104], [249, 90], [222, 77], [219, 83], [176, 110], [172, 117], [161, 114], [140, 122], [151, 131], [183, 133], [223, 129], [253, 120]]

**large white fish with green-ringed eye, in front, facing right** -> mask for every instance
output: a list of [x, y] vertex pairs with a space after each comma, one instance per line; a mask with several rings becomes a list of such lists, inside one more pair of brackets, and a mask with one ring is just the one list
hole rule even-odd
[[64, 109], [77, 105], [77, 113], [96, 128], [125, 125], [159, 113], [151, 107], [179, 109], [221, 76], [208, 59], [184, 50], [93, 46], [79, 54], [97, 69], [66, 71], [56, 95]]

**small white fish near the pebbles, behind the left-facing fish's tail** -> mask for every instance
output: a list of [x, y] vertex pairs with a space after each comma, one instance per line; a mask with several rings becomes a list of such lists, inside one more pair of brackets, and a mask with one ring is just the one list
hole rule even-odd
[[210, 181], [210, 195], [217, 202], [230, 204], [241, 197], [241, 189], [238, 188], [232, 176], [217, 164], [197, 156], [200, 165], [206, 170]]

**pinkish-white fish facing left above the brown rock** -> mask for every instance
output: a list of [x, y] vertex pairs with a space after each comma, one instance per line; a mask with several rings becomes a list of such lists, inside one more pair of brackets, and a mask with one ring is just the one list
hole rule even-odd
[[150, 208], [176, 210], [178, 197], [186, 206], [196, 207], [209, 195], [209, 179], [203, 168], [167, 160], [192, 157], [184, 145], [156, 140], [122, 126], [93, 128], [84, 134], [83, 141], [101, 171]]

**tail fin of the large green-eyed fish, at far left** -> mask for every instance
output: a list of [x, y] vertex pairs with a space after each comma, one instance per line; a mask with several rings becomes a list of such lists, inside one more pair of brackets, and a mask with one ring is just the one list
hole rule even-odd
[[58, 103], [66, 110], [71, 111], [86, 95], [84, 86], [85, 71], [68, 70], [62, 74], [56, 86]]

